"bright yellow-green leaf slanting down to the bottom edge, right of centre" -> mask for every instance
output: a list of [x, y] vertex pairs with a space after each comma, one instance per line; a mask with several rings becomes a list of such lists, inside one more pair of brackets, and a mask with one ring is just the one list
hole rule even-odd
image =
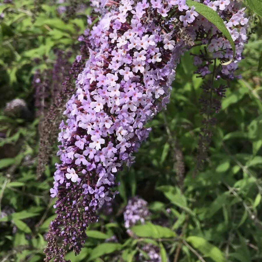
[[196, 249], [198, 249], [204, 256], [210, 257], [215, 262], [225, 262], [223, 253], [214, 245], [210, 244], [204, 238], [198, 236], [190, 236], [187, 238]]

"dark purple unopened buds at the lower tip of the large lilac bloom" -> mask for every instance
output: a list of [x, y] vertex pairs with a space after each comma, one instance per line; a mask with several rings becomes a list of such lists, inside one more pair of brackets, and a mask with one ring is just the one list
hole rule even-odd
[[51, 222], [46, 236], [48, 244], [44, 250], [47, 254], [45, 261], [54, 257], [54, 262], [64, 262], [68, 249], [79, 254], [88, 224], [97, 221], [96, 208], [89, 207], [91, 199], [83, 196], [81, 188], [81, 185], [73, 185], [69, 190], [59, 191], [55, 205], [57, 217]]

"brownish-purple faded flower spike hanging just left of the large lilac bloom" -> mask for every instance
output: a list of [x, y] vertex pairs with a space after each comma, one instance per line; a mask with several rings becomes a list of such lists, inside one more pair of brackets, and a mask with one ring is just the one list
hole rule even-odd
[[[88, 58], [89, 40], [86, 36], [81, 36], [81, 50], [79, 56], [76, 57], [73, 64], [68, 65], [69, 54], [64, 54], [58, 50], [57, 60], [53, 70], [53, 99], [45, 118], [42, 123], [40, 147], [38, 152], [37, 177], [40, 178], [45, 170], [45, 166], [52, 154], [52, 145], [56, 140], [56, 133], [59, 122], [62, 118], [65, 103], [69, 97], [75, 92], [75, 79], [84, 68], [84, 61]], [[37, 73], [38, 74], [38, 73]], [[34, 81], [41, 82], [39, 77], [34, 77]], [[36, 83], [37, 84], [37, 83]]]

